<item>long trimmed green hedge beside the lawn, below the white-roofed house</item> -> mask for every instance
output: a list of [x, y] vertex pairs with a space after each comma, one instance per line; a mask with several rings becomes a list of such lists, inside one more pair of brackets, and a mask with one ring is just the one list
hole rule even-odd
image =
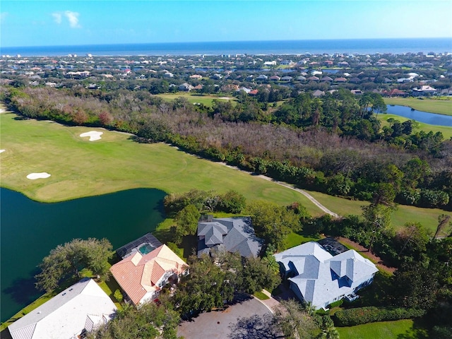
[[375, 321], [411, 319], [423, 316], [423, 309], [403, 309], [396, 307], [358, 307], [341, 309], [332, 316], [335, 326], [355, 326]]

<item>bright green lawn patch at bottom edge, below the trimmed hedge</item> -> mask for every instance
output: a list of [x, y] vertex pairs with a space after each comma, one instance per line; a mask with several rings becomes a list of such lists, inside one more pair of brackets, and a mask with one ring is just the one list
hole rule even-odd
[[427, 331], [422, 328], [415, 328], [414, 321], [411, 319], [337, 327], [337, 330], [340, 338], [347, 339], [428, 338]]

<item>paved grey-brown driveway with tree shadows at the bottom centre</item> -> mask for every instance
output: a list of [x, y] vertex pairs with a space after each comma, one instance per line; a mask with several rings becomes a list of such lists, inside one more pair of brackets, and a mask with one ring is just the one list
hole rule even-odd
[[235, 326], [238, 319], [270, 313], [266, 305], [253, 298], [224, 311], [211, 311], [199, 315], [193, 321], [184, 321], [179, 325], [177, 335], [183, 335], [185, 339], [233, 338], [230, 326]]

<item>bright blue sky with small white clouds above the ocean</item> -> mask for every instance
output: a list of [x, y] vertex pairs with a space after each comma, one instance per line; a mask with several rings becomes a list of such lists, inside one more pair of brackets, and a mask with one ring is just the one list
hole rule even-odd
[[452, 37], [452, 0], [1, 0], [3, 47]]

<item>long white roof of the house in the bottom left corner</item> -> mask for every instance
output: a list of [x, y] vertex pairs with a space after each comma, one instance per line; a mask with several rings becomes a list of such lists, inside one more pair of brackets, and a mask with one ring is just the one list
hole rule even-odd
[[74, 338], [109, 321], [117, 307], [92, 279], [83, 279], [8, 326], [13, 339]]

